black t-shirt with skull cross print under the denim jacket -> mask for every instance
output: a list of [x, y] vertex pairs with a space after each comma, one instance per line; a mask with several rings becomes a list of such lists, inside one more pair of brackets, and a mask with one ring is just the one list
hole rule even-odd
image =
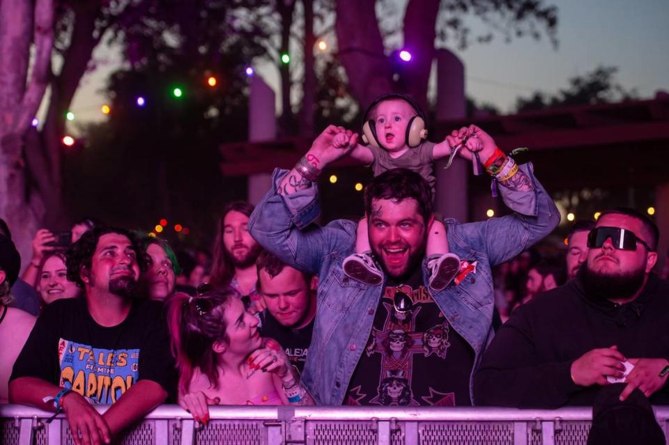
[[474, 350], [447, 322], [420, 267], [387, 283], [345, 405], [470, 406]]

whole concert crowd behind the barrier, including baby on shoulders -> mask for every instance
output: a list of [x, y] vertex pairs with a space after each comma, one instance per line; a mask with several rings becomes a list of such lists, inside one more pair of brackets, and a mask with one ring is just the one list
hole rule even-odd
[[[0, 403], [65, 412], [77, 445], [161, 403], [204, 424], [210, 405], [554, 408], [604, 387], [669, 403], [654, 222], [607, 210], [541, 258], [560, 215], [532, 165], [474, 125], [436, 144], [424, 127], [397, 94], [365, 113], [366, 145], [328, 127], [258, 205], [223, 209], [211, 256], [86, 218], [38, 231], [20, 275], [0, 225]], [[458, 153], [509, 215], [436, 214], [432, 163]], [[374, 170], [364, 217], [318, 226], [316, 180], [346, 155]]]

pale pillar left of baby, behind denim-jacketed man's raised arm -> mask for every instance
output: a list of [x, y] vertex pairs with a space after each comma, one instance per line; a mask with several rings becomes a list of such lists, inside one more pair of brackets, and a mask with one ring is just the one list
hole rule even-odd
[[[249, 94], [249, 141], [271, 141], [277, 136], [275, 94], [259, 75], [251, 79]], [[256, 205], [272, 187], [271, 172], [249, 175], [247, 201]]]

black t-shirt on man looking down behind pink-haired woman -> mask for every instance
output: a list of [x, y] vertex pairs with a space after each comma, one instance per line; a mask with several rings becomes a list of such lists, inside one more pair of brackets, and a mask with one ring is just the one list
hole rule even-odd
[[274, 338], [282, 345], [291, 364], [300, 371], [305, 368], [309, 345], [312, 343], [312, 331], [314, 331], [314, 320], [302, 329], [291, 329], [285, 327], [272, 317], [269, 311], [264, 311], [262, 316], [261, 335]]

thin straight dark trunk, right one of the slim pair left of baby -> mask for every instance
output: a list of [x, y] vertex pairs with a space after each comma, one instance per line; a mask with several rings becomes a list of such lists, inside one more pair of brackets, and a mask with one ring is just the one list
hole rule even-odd
[[302, 83], [300, 136], [314, 135], [314, 104], [316, 72], [314, 71], [314, 0], [302, 0], [305, 6], [305, 79]]

